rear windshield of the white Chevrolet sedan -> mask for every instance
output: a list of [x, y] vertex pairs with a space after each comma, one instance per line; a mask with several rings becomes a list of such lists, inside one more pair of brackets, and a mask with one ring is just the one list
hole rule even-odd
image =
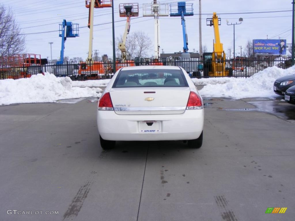
[[121, 70], [113, 88], [126, 87], [188, 87], [183, 72], [179, 70]]

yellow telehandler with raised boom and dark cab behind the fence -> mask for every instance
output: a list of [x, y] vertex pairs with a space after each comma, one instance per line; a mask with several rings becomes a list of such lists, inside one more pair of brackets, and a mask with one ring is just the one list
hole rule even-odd
[[204, 77], [219, 77], [219, 76], [232, 76], [232, 68], [225, 67], [225, 52], [223, 45], [220, 43], [219, 37], [219, 25], [221, 25], [221, 19], [218, 18], [216, 12], [213, 12], [212, 18], [207, 18], [207, 25], [214, 28], [215, 42], [213, 52], [203, 53], [204, 59]]

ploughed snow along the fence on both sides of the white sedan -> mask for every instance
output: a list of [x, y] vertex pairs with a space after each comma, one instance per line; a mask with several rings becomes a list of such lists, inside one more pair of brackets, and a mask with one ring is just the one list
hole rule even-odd
[[[205, 85], [200, 90], [205, 97], [227, 98], [276, 98], [274, 81], [285, 75], [295, 74], [295, 66], [288, 69], [268, 67], [252, 77], [212, 77], [192, 80], [196, 85]], [[0, 80], [0, 105], [13, 103], [56, 102], [62, 99], [101, 96], [110, 79], [72, 81], [69, 77], [55, 77], [53, 74], [33, 75], [18, 80]]]

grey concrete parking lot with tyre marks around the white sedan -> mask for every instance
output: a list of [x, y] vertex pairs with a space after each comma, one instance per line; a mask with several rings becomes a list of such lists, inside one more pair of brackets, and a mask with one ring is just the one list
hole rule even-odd
[[246, 101], [295, 110], [205, 99], [200, 149], [119, 141], [104, 151], [97, 99], [1, 106], [0, 220], [294, 220], [294, 118], [230, 110], [256, 108]]

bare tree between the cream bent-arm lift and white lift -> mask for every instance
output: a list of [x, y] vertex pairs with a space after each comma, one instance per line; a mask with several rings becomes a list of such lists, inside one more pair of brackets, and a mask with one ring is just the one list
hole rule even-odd
[[147, 57], [152, 45], [151, 39], [142, 31], [135, 32], [134, 38], [137, 43], [136, 57]]

